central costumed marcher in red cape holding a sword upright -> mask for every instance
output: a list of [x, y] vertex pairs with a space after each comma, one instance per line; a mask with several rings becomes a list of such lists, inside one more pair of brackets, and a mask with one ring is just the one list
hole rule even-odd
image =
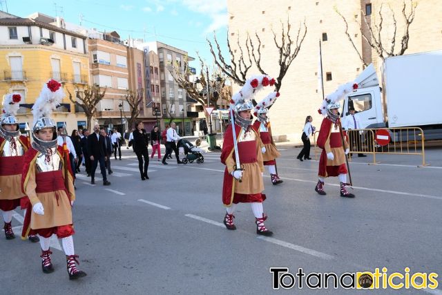
[[[266, 196], [262, 193], [264, 184], [261, 174], [264, 171], [264, 166], [260, 139], [258, 133], [251, 126], [252, 120], [242, 118], [240, 113], [253, 108], [249, 99], [262, 86], [269, 85], [269, 81], [269, 77], [265, 75], [252, 77], [247, 80], [241, 91], [233, 95], [230, 108], [231, 118], [234, 117], [232, 120], [234, 125], [230, 124], [224, 133], [221, 153], [221, 162], [226, 165], [222, 187], [222, 202], [227, 207], [224, 225], [227, 229], [236, 229], [233, 222], [236, 204], [248, 202], [251, 203], [255, 216], [256, 234], [263, 236], [271, 236], [273, 233], [264, 225], [267, 216], [262, 208], [262, 202]], [[236, 151], [238, 151], [238, 155]], [[240, 160], [240, 163], [237, 159]]]

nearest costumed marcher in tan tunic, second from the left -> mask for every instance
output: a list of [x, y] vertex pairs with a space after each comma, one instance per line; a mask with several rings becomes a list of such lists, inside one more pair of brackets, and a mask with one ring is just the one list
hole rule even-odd
[[[53, 272], [49, 249], [50, 236], [61, 238], [66, 254], [67, 270], [70, 279], [81, 278], [86, 273], [77, 269], [78, 256], [75, 255], [73, 234], [72, 204], [75, 200], [73, 171], [66, 142], [57, 145], [57, 125], [50, 118], [52, 111], [61, 102], [64, 91], [55, 80], [44, 85], [37, 98], [32, 113], [34, 115], [32, 147], [26, 152], [21, 180], [22, 189], [29, 197], [30, 204], [23, 222], [22, 236], [29, 231], [40, 236], [41, 269], [44, 273]], [[41, 140], [38, 133], [52, 129], [52, 140]]]

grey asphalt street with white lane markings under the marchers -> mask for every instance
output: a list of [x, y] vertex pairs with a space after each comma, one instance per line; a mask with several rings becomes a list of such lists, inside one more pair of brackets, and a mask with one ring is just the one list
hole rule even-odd
[[[238, 230], [222, 225], [220, 153], [205, 153], [202, 164], [151, 160], [150, 179], [142, 181], [135, 154], [123, 149], [123, 160], [112, 160], [109, 187], [99, 174], [91, 185], [81, 167], [74, 242], [79, 269], [88, 276], [68, 280], [61, 242], [55, 238], [55, 272], [41, 272], [39, 244], [19, 238], [23, 212], [17, 209], [12, 220], [17, 238], [0, 237], [0, 293], [442, 294], [441, 148], [427, 149], [431, 165], [421, 168], [416, 155], [378, 155], [376, 165], [367, 164], [370, 156], [354, 158], [354, 199], [339, 196], [337, 178], [327, 179], [327, 196], [319, 196], [314, 191], [318, 162], [296, 160], [297, 148], [280, 150], [278, 172], [284, 183], [273, 186], [265, 172], [271, 238], [256, 235], [249, 204], [240, 204], [235, 213]], [[270, 267], [338, 276], [376, 267], [405, 274], [409, 267], [410, 274], [439, 274], [439, 287], [317, 290], [304, 282], [300, 289], [296, 277], [291, 289], [273, 289]], [[289, 278], [283, 283], [289, 284]]]

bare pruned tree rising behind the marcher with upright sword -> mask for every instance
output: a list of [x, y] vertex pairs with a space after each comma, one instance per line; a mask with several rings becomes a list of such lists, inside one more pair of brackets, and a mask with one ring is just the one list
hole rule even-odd
[[[287, 24], [282, 23], [282, 30], [281, 30], [281, 36], [278, 37], [276, 32], [272, 29], [273, 32], [273, 41], [275, 43], [275, 46], [278, 50], [278, 66], [279, 66], [279, 73], [278, 77], [276, 78], [276, 91], [279, 91], [279, 89], [282, 86], [282, 79], [284, 78], [285, 74], [287, 73], [287, 70], [289, 70], [289, 66], [291, 65], [291, 62], [294, 61], [296, 56], [298, 55], [302, 42], [305, 39], [305, 35], [307, 35], [307, 26], [305, 25], [305, 21], [303, 23], [303, 26], [301, 25], [298, 29], [298, 35], [296, 35], [296, 38], [291, 36], [291, 25], [289, 22], [289, 19], [287, 18]], [[253, 43], [253, 39], [249, 35], [247, 35], [246, 41], [244, 46], [241, 46], [240, 44], [240, 36], [238, 35], [237, 39], [237, 45], [239, 48], [239, 53], [236, 53], [236, 50], [232, 50], [229, 37], [227, 37], [227, 48], [229, 48], [229, 53], [231, 56], [230, 64], [227, 63], [226, 59], [222, 56], [222, 52], [220, 49], [220, 44], [218, 43], [218, 40], [215, 37], [215, 34], [213, 34], [213, 42], [216, 45], [217, 52], [215, 53], [215, 50], [213, 49], [212, 42], [207, 39], [207, 42], [209, 43], [209, 47], [211, 50], [211, 54], [213, 56], [213, 59], [215, 60], [215, 64], [220, 67], [222, 72], [227, 75], [227, 77], [230, 77], [233, 82], [236, 84], [239, 84], [240, 86], [244, 85], [247, 79], [247, 71], [251, 68], [253, 62], [251, 57], [253, 57], [254, 64], [256, 64], [258, 70], [260, 73], [267, 75], [267, 71], [262, 68], [261, 63], [261, 39], [258, 35], [258, 33], [255, 33], [256, 42], [258, 44]], [[295, 41], [296, 39], [296, 41]]]

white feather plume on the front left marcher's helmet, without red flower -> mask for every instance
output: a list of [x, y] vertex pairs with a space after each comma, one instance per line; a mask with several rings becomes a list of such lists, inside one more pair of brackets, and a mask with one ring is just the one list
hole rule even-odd
[[41, 89], [39, 97], [37, 97], [37, 100], [35, 101], [34, 106], [32, 106], [34, 125], [41, 117], [50, 117], [50, 115], [52, 115], [52, 111], [54, 111], [55, 108], [61, 104], [64, 96], [65, 94], [61, 86], [57, 89], [57, 91], [52, 92], [50, 91], [50, 88], [48, 88], [48, 83], [45, 83]]

